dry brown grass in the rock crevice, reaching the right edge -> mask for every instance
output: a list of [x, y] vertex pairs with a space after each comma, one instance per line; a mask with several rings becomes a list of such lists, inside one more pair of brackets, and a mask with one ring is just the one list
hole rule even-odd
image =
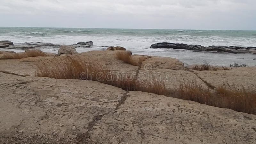
[[256, 114], [256, 91], [237, 89], [225, 84], [211, 90], [203, 88], [195, 82], [181, 83], [178, 88], [171, 90], [171, 97], [196, 101], [201, 104], [219, 108], [229, 108], [235, 111]]

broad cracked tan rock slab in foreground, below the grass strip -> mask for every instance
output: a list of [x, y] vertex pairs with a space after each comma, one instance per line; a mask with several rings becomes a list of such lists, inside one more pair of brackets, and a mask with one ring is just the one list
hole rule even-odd
[[256, 116], [93, 81], [0, 72], [0, 143], [254, 143]]

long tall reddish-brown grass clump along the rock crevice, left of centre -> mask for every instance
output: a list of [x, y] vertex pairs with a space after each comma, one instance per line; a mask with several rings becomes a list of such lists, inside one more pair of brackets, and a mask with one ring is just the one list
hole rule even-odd
[[83, 63], [70, 56], [43, 60], [37, 65], [36, 76], [56, 79], [83, 79], [113, 85], [126, 91], [141, 91], [165, 95], [162, 81], [139, 81], [128, 74], [115, 73], [102, 65], [92, 62]]

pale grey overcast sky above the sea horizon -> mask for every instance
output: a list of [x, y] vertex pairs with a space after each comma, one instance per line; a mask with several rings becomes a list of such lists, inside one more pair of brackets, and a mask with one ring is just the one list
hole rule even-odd
[[256, 0], [0, 0], [0, 26], [256, 30]]

